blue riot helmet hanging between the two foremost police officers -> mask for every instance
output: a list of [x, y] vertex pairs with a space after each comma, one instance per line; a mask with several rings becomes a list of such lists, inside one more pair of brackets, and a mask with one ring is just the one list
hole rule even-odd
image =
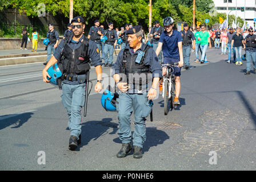
[[106, 111], [116, 111], [117, 110], [117, 98], [118, 94], [106, 89], [101, 96], [101, 105]]

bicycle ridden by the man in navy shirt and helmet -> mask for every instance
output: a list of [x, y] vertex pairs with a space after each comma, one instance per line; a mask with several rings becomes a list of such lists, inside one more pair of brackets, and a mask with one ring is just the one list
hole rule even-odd
[[165, 115], [169, 111], [169, 100], [171, 109], [174, 108], [174, 98], [175, 98], [175, 75], [174, 67], [178, 63], [163, 64], [162, 67], [166, 67], [166, 74], [163, 76], [163, 108]]

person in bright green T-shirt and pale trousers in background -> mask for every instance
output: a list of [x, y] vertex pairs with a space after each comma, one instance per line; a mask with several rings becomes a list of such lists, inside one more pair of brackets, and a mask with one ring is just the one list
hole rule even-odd
[[211, 41], [209, 32], [205, 31], [205, 26], [202, 26], [202, 31], [199, 32], [198, 40], [200, 40], [200, 47], [202, 49], [201, 64], [210, 63], [210, 61], [207, 61], [206, 50], [208, 47], [208, 43], [209, 48], [211, 48]]

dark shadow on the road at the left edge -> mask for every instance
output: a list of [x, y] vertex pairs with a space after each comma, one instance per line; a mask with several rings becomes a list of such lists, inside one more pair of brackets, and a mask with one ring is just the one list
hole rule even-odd
[[11, 129], [17, 129], [21, 127], [23, 123], [29, 121], [31, 115], [34, 113], [22, 113], [22, 114], [8, 114], [0, 117], [0, 130], [5, 129], [8, 126], [14, 125]]

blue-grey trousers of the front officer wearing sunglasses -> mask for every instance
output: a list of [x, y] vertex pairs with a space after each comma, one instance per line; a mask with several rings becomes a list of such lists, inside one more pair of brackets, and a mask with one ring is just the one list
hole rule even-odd
[[62, 82], [61, 100], [69, 117], [70, 135], [79, 137], [81, 134], [81, 111], [85, 104], [85, 84], [69, 85]]

